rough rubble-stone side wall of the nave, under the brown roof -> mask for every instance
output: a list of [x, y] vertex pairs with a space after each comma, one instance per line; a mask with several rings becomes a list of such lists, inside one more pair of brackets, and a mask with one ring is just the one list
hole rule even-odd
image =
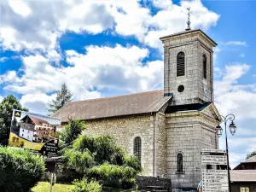
[[110, 135], [116, 138], [128, 154], [133, 154], [135, 137], [142, 139], [142, 175], [153, 176], [154, 117], [150, 114], [132, 115], [109, 119], [86, 121], [84, 134], [90, 136]]

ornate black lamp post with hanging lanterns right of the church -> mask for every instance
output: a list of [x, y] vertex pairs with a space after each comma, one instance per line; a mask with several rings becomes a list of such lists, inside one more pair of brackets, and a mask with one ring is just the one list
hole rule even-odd
[[[234, 114], [228, 114], [226, 117], [221, 115], [221, 119], [224, 122], [225, 125], [225, 137], [226, 137], [226, 153], [227, 153], [227, 170], [228, 170], [228, 180], [229, 180], [229, 191], [231, 192], [231, 185], [230, 185], [230, 160], [229, 160], [229, 146], [228, 146], [228, 135], [227, 135], [227, 122], [230, 120], [231, 123], [229, 125], [230, 133], [232, 136], [236, 133], [236, 125], [234, 124], [235, 115]], [[220, 125], [216, 127], [217, 135], [218, 137], [221, 137], [223, 129]]]

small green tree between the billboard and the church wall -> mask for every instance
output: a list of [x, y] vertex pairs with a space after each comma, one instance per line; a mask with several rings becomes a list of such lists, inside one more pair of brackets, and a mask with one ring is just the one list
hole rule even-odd
[[84, 129], [85, 125], [82, 120], [69, 119], [68, 124], [62, 128], [59, 138], [64, 146], [68, 146], [79, 137]]

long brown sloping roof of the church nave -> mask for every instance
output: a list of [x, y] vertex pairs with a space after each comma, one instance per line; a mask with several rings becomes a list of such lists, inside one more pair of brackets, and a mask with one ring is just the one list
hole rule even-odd
[[123, 96], [111, 96], [79, 102], [69, 102], [52, 116], [67, 122], [73, 119], [102, 119], [123, 115], [158, 112], [172, 96], [164, 90], [153, 90]]

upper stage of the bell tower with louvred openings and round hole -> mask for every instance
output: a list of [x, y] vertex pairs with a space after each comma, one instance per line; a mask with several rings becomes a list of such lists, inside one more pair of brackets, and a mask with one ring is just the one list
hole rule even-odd
[[217, 44], [200, 29], [160, 38], [164, 44], [165, 96], [172, 106], [213, 102], [212, 48]]

